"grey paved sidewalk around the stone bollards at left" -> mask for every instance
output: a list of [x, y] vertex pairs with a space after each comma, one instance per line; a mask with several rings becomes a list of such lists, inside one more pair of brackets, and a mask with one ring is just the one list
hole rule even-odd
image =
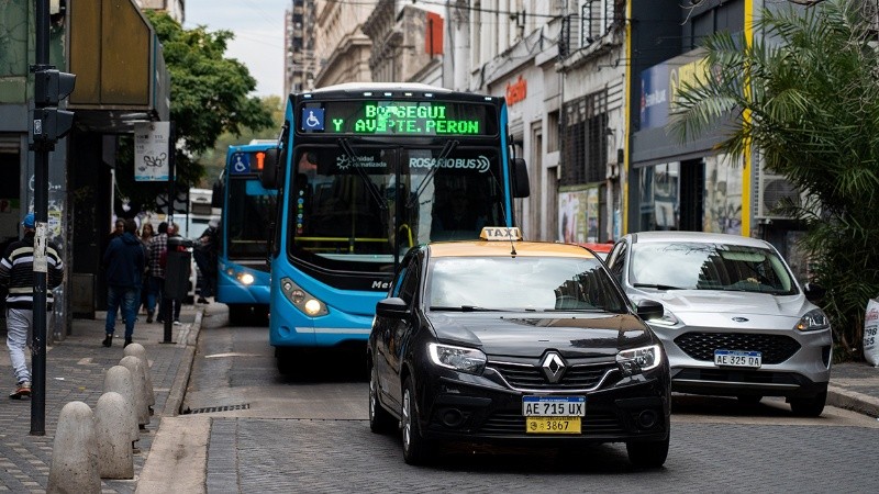
[[[32, 436], [31, 400], [10, 400], [14, 379], [5, 345], [0, 351], [0, 492], [46, 492], [58, 415], [69, 402], [79, 401], [94, 409], [103, 394], [107, 370], [122, 357], [124, 324], [116, 322], [111, 348], [101, 346], [104, 312], [94, 319], [74, 319], [71, 335], [46, 349], [45, 436]], [[134, 326], [134, 343], [146, 350], [156, 397], [155, 414], [141, 430], [134, 450], [134, 480], [102, 480], [103, 492], [133, 493], [149, 448], [158, 433], [162, 417], [177, 415], [186, 391], [201, 326], [201, 306], [183, 305], [181, 325], [171, 327], [171, 344], [163, 343], [165, 326], [146, 324], [141, 314]], [[0, 327], [5, 341], [5, 327]]]

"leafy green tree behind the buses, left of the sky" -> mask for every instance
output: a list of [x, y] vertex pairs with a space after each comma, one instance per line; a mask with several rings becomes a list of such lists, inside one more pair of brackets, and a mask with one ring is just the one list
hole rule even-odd
[[[205, 175], [196, 157], [213, 149], [223, 133], [241, 135], [274, 127], [274, 110], [249, 96], [256, 79], [247, 67], [225, 58], [232, 32], [208, 32], [204, 26], [185, 30], [164, 12], [147, 10], [144, 14], [162, 42], [170, 74], [170, 121], [177, 143], [175, 181], [180, 197]], [[129, 199], [134, 211], [164, 209], [156, 201], [167, 193], [167, 183], [135, 183], [132, 149], [131, 136], [120, 138], [116, 182], [121, 195]]]

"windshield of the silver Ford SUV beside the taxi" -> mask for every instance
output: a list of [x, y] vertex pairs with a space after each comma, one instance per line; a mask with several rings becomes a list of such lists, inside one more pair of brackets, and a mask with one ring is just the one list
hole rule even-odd
[[774, 251], [725, 244], [634, 244], [630, 280], [633, 287], [660, 290], [797, 293], [790, 272]]

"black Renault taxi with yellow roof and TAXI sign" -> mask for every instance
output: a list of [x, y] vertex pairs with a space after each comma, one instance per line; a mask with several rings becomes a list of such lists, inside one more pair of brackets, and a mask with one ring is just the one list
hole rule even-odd
[[604, 265], [576, 245], [481, 240], [415, 246], [368, 343], [369, 425], [402, 431], [403, 459], [443, 442], [570, 446], [625, 442], [636, 467], [661, 467], [669, 369]]

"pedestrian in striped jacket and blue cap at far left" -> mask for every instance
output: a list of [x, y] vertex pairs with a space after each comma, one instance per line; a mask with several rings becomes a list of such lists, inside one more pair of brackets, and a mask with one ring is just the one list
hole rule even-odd
[[[34, 324], [34, 214], [29, 213], [21, 222], [23, 238], [7, 247], [0, 259], [0, 285], [7, 294], [7, 347], [15, 374], [15, 391], [9, 397], [21, 400], [31, 395], [31, 370], [24, 357], [24, 348], [31, 346]], [[52, 312], [52, 289], [62, 284], [64, 262], [58, 247], [46, 243], [46, 319]]]

